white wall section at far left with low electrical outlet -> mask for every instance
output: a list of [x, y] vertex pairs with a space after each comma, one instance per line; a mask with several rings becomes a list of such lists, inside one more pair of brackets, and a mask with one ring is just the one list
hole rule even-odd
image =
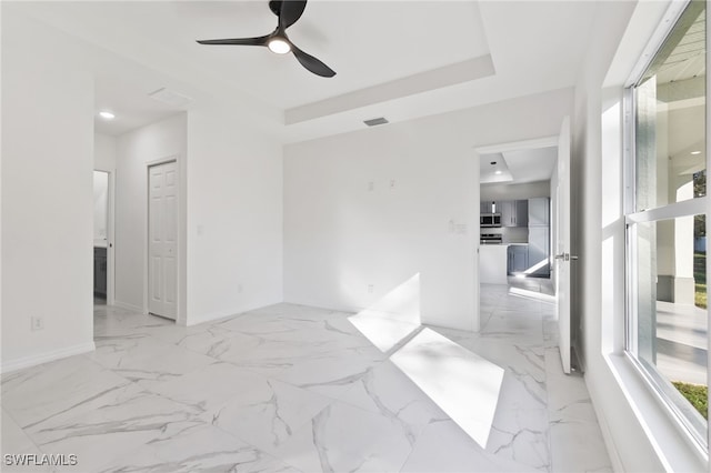
[[93, 349], [93, 83], [16, 20], [3, 11], [2, 371]]

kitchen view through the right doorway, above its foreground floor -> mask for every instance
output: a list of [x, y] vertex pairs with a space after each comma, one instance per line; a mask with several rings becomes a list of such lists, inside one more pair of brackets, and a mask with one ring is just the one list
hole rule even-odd
[[480, 282], [552, 295], [558, 140], [478, 152]]

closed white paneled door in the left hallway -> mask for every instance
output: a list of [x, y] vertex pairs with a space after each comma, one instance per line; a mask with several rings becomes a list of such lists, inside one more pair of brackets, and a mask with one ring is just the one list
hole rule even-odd
[[148, 311], [178, 313], [178, 173], [176, 162], [148, 169]]

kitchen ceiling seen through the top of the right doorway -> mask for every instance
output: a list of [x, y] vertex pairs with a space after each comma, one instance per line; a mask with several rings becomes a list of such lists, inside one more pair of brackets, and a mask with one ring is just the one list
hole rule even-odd
[[557, 147], [482, 154], [479, 162], [479, 179], [482, 184], [549, 181], [553, 175], [557, 160]]

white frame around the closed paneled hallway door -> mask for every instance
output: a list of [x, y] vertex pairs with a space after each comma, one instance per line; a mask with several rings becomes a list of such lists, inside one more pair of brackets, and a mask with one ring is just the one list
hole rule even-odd
[[[178, 193], [176, 202], [177, 202], [177, 209], [176, 209], [176, 245], [178, 248], [177, 254], [176, 254], [176, 320], [173, 320], [173, 322], [176, 324], [184, 324], [184, 322], [182, 322], [182, 239], [181, 239], [181, 228], [182, 228], [182, 219], [181, 219], [181, 211], [182, 211], [182, 205], [181, 205], [181, 199], [182, 199], [182, 177], [181, 177], [181, 172], [180, 172], [180, 159], [178, 154], [173, 154], [173, 155], [169, 155], [166, 158], [160, 158], [153, 161], [148, 161], [146, 163], [146, 201], [144, 201], [144, 220], [143, 220], [143, 224], [144, 224], [144, 229], [146, 231], [143, 232], [143, 238], [144, 238], [144, 245], [143, 245], [143, 314], [148, 315], [149, 314], [149, 304], [148, 304], [148, 298], [149, 298], [149, 290], [150, 290], [150, 271], [149, 271], [149, 266], [150, 266], [150, 172], [151, 172], [151, 168], [156, 167], [156, 165], [161, 165], [161, 164], [168, 164], [174, 162], [176, 163], [176, 173], [177, 179], [176, 182], [178, 183], [178, 185], [176, 187], [176, 192]], [[171, 319], [167, 319], [167, 320], [171, 320]]]

